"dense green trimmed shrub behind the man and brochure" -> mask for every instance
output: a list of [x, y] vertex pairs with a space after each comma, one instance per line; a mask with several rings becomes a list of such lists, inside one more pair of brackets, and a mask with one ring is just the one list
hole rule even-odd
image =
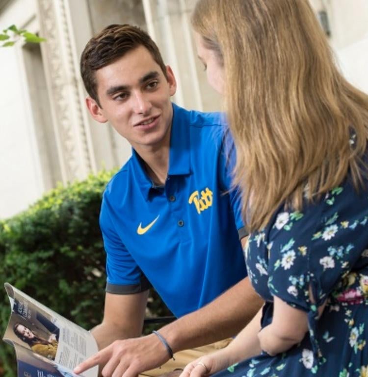
[[[101, 322], [105, 296], [105, 252], [99, 228], [102, 193], [112, 172], [59, 186], [27, 211], [0, 221], [0, 331], [10, 306], [9, 282], [42, 304], [90, 329]], [[154, 293], [152, 315], [168, 310]], [[1, 342], [0, 372], [16, 376], [15, 353]]]

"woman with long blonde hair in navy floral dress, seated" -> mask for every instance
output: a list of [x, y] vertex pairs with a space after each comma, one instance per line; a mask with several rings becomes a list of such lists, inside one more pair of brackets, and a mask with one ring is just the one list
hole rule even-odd
[[366, 377], [368, 96], [336, 68], [308, 0], [199, 0], [192, 24], [224, 94], [266, 304], [182, 377]]

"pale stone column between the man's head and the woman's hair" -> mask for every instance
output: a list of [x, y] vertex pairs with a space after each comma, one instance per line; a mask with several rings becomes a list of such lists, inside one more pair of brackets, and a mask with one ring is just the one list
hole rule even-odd
[[219, 96], [210, 89], [197, 58], [190, 26], [196, 0], [143, 0], [147, 29], [178, 81], [173, 100], [187, 109], [219, 110]]

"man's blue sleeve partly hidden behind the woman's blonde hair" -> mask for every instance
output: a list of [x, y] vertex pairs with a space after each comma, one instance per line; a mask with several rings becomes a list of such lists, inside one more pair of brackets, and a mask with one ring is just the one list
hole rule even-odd
[[241, 214], [240, 190], [232, 184], [233, 170], [236, 164], [236, 149], [229, 131], [225, 131], [222, 148], [219, 154], [219, 182], [220, 188], [229, 193], [230, 206], [234, 214], [239, 238], [247, 236]]

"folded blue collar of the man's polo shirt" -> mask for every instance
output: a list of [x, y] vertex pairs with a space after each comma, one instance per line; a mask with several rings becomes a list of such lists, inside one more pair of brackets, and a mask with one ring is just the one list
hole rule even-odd
[[[190, 113], [174, 103], [172, 106], [168, 175], [187, 175], [190, 174]], [[153, 182], [144, 168], [143, 160], [133, 148], [132, 165], [137, 184], [145, 199], [148, 200]]]

